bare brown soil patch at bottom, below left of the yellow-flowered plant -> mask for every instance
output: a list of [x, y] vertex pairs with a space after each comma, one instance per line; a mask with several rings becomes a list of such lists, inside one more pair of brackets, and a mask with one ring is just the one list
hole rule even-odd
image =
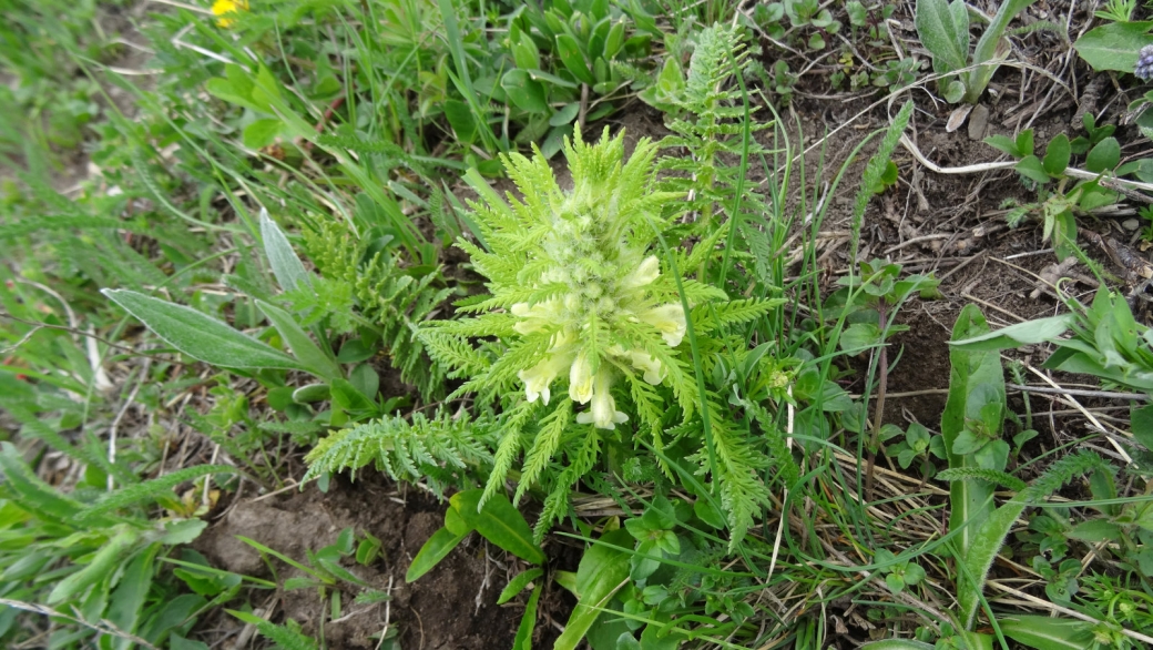
[[[238, 536], [255, 539], [296, 561], [307, 563], [306, 552], [333, 544], [345, 528], [368, 532], [382, 541], [380, 558], [368, 567], [346, 562], [346, 568], [371, 588], [389, 591], [387, 603], [355, 605], [360, 589], [341, 584], [344, 611], [339, 622], [324, 623], [329, 648], [376, 648], [378, 635], [389, 625], [399, 628], [402, 648], [465, 650], [507, 648], [523, 613], [523, 598], [496, 605], [508, 578], [525, 566], [476, 535], [467, 538], [429, 574], [405, 582], [413, 556], [444, 523], [444, 505], [415, 490], [399, 492], [383, 480], [355, 484], [333, 480], [327, 494], [308, 485], [302, 492], [264, 500], [241, 500], [196, 541], [196, 548], [214, 566], [250, 576], [270, 576], [261, 555]], [[301, 571], [273, 561], [280, 584]], [[267, 602], [254, 596], [254, 606], [271, 612], [271, 620], [293, 619], [306, 634], [318, 635], [318, 622], [330, 613], [316, 589], [278, 590]], [[560, 605], [559, 599], [550, 603]], [[570, 605], [571, 606], [571, 605]], [[560, 620], [567, 612], [556, 615]], [[217, 621], [229, 633], [235, 621]], [[211, 628], [209, 625], [205, 628]], [[231, 629], [229, 629], [231, 628]], [[538, 629], [538, 635], [548, 633]]]

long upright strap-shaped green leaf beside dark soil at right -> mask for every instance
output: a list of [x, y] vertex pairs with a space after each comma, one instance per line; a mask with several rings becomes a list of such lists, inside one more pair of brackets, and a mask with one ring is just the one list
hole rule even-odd
[[[981, 311], [975, 305], [966, 305], [954, 324], [951, 341], [973, 338], [987, 331], [988, 324]], [[966, 429], [966, 419], [978, 417], [980, 409], [988, 402], [1004, 403], [1001, 358], [996, 352], [952, 348], [949, 361], [949, 397], [941, 417], [941, 435], [944, 438], [950, 468], [975, 468], [979, 466], [977, 460], [958, 454], [955, 446], [958, 436]], [[984, 481], [956, 481], [949, 485], [949, 500], [952, 508], [949, 530], [964, 526], [957, 541], [964, 556], [981, 522], [993, 508], [993, 486]]]

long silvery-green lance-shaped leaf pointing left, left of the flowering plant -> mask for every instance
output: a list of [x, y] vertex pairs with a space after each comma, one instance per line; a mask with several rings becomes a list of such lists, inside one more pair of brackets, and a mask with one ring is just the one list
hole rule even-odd
[[205, 364], [226, 368], [308, 369], [288, 354], [190, 307], [127, 289], [105, 289], [101, 293], [165, 343]]

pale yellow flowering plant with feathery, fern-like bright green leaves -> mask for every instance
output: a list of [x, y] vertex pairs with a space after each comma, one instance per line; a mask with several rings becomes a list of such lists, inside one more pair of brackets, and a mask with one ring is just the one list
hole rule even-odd
[[[605, 129], [588, 144], [578, 130], [564, 154], [568, 190], [540, 152], [504, 158], [520, 199], [506, 202], [470, 178], [482, 197], [472, 203], [482, 244], [459, 246], [488, 278], [490, 293], [458, 304], [478, 315], [434, 321], [422, 333], [434, 358], [454, 368], [450, 376], [468, 378], [455, 396], [476, 393], [477, 403], [500, 403], [503, 438], [485, 495], [503, 485], [526, 447], [517, 499], [551, 478], [538, 536], [563, 514], [568, 490], [596, 463], [602, 444], [628, 453], [633, 435], [646, 433], [662, 450], [670, 428], [678, 440], [699, 429], [702, 404], [718, 411], [719, 399], [701, 395], [688, 372], [694, 333], [699, 351], [715, 350], [709, 333], [777, 304], [729, 301], [724, 291], [678, 274], [700, 269], [716, 254], [717, 239], [698, 242], [691, 254], [657, 256], [661, 234], [685, 203], [679, 193], [655, 189], [651, 142], [641, 140], [625, 162], [620, 135], [609, 137]], [[702, 464], [700, 473], [719, 480], [739, 535], [763, 501], [761, 458], [723, 435], [702, 450], [704, 438], [694, 440], [689, 455]], [[567, 463], [559, 476], [547, 476], [562, 455]], [[666, 463], [657, 464], [673, 476]]]

